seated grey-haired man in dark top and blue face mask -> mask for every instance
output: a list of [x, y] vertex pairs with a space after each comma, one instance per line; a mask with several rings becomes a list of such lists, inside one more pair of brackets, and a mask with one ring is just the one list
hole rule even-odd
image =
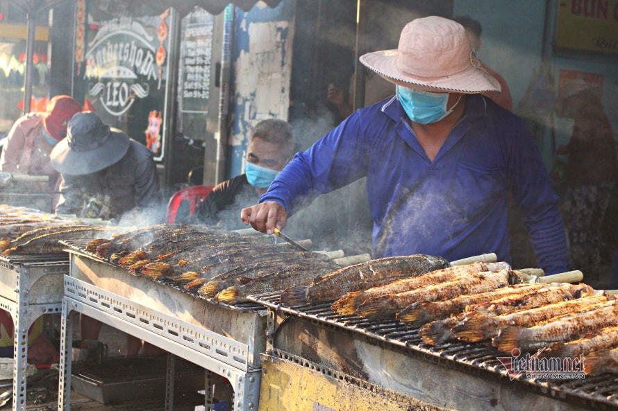
[[199, 204], [199, 222], [223, 229], [244, 228], [238, 218], [244, 207], [255, 204], [272, 180], [294, 155], [290, 125], [277, 119], [260, 121], [247, 146], [244, 173], [218, 184]]

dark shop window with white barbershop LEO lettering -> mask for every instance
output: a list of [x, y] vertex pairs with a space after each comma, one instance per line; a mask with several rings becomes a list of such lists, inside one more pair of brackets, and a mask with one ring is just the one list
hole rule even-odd
[[169, 11], [102, 22], [85, 53], [85, 98], [157, 161], [165, 148], [170, 24]]

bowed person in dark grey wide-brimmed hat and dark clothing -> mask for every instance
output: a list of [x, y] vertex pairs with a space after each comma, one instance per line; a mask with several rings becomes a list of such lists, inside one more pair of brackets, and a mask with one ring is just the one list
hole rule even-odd
[[67, 137], [51, 152], [51, 164], [62, 173], [57, 213], [118, 219], [160, 204], [151, 152], [94, 112], [73, 116]]

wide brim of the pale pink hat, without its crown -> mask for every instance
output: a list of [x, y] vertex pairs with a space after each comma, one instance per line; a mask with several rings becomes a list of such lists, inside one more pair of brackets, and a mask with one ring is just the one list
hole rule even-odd
[[476, 69], [472, 65], [464, 71], [442, 78], [419, 78], [397, 68], [398, 51], [374, 51], [360, 56], [360, 62], [368, 69], [378, 73], [385, 80], [403, 87], [426, 87], [441, 91], [476, 94], [485, 91], [501, 91], [500, 83], [483, 69]]

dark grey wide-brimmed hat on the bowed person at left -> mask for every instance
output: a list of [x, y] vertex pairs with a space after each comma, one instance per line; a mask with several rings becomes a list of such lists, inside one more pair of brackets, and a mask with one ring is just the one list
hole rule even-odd
[[128, 150], [129, 138], [103, 124], [93, 112], [77, 113], [67, 125], [67, 137], [51, 150], [51, 165], [62, 174], [96, 173], [117, 163]]

